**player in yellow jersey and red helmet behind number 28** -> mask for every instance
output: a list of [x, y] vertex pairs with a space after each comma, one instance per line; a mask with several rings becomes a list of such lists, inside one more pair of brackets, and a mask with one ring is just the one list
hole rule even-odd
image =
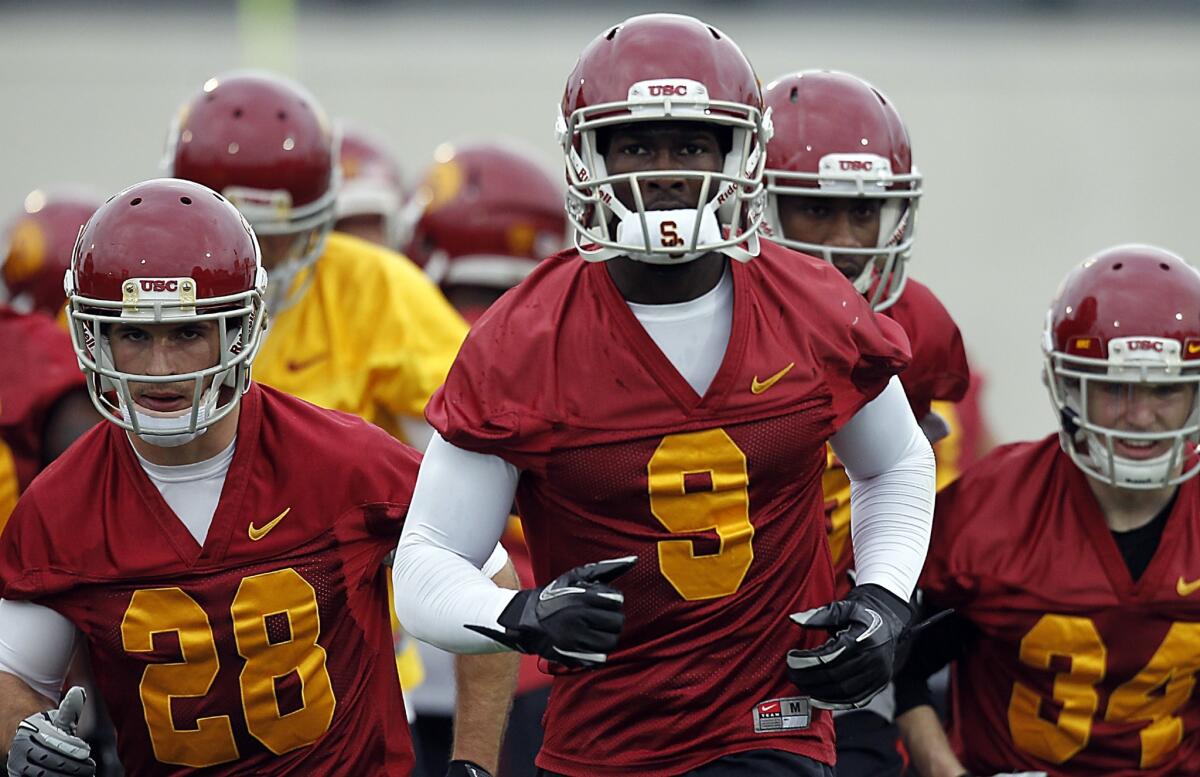
[[[424, 447], [432, 430], [421, 414], [467, 326], [412, 261], [331, 231], [338, 141], [317, 100], [271, 74], [216, 77], [185, 104], [167, 149], [173, 175], [221, 192], [263, 242], [275, 293], [254, 377]], [[517, 584], [510, 568], [503, 574]], [[509, 657], [460, 659], [474, 688], [458, 707], [468, 716], [460, 736], [494, 740], [498, 751], [494, 712], [508, 709], [515, 673]]]

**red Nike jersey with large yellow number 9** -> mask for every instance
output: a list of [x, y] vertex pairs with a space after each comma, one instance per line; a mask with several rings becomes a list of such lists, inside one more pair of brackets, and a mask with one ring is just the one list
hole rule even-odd
[[731, 269], [732, 332], [703, 397], [606, 265], [566, 252], [484, 314], [427, 409], [451, 444], [522, 470], [539, 583], [638, 556], [616, 583], [617, 651], [554, 677], [545, 769], [677, 775], [758, 748], [833, 761], [829, 716], [775, 701], [800, 695], [787, 650], [824, 639], [787, 615], [833, 596], [824, 441], [907, 341], [832, 265], [764, 242]]

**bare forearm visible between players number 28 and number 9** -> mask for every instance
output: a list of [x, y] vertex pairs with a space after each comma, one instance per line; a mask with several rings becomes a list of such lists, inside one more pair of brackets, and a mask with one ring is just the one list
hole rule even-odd
[[[521, 588], [511, 562], [492, 582], [505, 589]], [[455, 659], [458, 695], [451, 758], [474, 761], [493, 775], [497, 772], [518, 662], [520, 656], [515, 652]]]

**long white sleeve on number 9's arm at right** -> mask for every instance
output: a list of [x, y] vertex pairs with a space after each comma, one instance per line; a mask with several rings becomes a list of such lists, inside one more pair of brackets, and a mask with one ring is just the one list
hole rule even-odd
[[912, 596], [934, 523], [934, 450], [898, 378], [829, 444], [850, 477], [850, 532], [858, 584]]

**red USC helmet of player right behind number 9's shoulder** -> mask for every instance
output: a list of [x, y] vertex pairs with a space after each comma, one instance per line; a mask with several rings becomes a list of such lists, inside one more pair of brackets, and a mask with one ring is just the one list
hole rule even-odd
[[[767, 218], [763, 235], [797, 251], [824, 257], [865, 255], [854, 288], [876, 311], [904, 291], [906, 263], [916, 236], [920, 173], [912, 145], [892, 102], [847, 73], [805, 71], [767, 85], [763, 100], [775, 133], [767, 146]], [[872, 248], [803, 242], [784, 234], [779, 198], [882, 199], [880, 233]]]

